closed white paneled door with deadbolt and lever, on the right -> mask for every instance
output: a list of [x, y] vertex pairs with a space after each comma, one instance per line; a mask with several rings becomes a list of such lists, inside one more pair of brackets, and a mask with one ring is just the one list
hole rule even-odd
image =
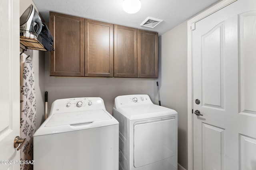
[[196, 22], [192, 44], [194, 170], [256, 170], [256, 1]]

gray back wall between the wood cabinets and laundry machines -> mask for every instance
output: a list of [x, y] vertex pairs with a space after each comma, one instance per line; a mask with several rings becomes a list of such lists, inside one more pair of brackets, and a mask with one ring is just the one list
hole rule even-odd
[[90, 78], [50, 76], [50, 57], [45, 56], [45, 90], [48, 91], [49, 109], [56, 99], [77, 97], [100, 97], [106, 110], [112, 114], [116, 96], [148, 94], [153, 100], [152, 78]]

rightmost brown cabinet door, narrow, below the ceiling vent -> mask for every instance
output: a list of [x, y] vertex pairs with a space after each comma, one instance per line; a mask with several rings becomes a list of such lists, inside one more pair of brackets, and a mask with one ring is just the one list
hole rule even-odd
[[158, 33], [139, 30], [138, 77], [158, 77]]

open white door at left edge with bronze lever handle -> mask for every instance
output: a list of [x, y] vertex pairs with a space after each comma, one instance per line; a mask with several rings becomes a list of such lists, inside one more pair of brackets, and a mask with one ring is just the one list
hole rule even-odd
[[0, 1], [0, 169], [20, 169], [14, 138], [20, 135], [19, 0]]

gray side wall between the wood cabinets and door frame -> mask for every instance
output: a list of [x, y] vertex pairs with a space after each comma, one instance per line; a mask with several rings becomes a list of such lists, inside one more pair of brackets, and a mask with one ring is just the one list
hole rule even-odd
[[[159, 77], [156, 81], [162, 106], [178, 112], [178, 163], [188, 169], [187, 22], [159, 37]], [[156, 88], [154, 90], [156, 103], [158, 94]]]

